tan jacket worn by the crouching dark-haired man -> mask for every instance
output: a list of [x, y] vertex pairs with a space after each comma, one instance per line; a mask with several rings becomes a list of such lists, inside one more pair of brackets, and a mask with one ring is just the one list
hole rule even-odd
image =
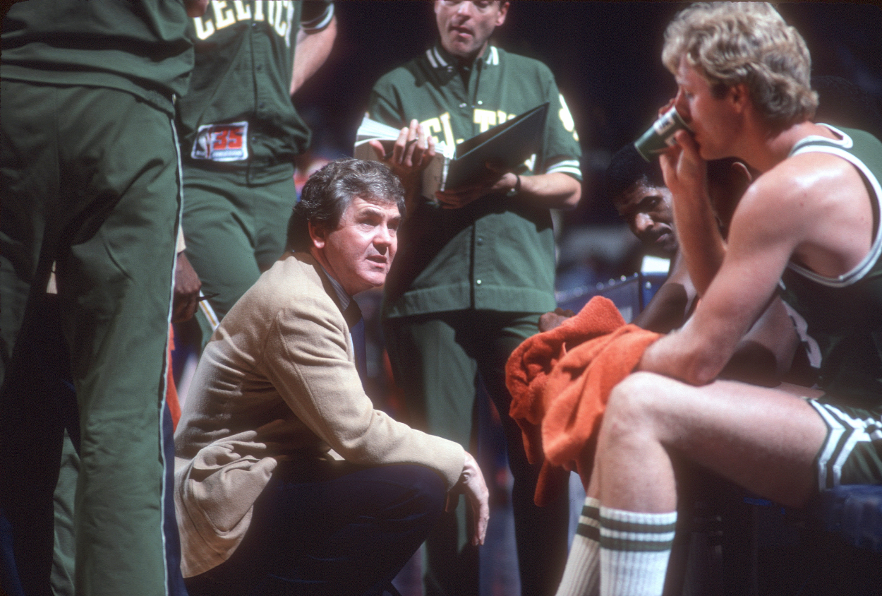
[[333, 287], [308, 253], [286, 253], [221, 321], [184, 400], [175, 449], [184, 577], [233, 554], [284, 458], [422, 464], [448, 488], [465, 460], [459, 444], [374, 409]]

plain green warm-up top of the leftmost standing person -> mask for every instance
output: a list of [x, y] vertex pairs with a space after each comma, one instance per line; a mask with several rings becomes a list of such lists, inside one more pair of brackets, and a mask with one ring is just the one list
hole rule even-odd
[[3, 23], [0, 77], [110, 87], [170, 115], [193, 67], [182, 0], [30, 0]]

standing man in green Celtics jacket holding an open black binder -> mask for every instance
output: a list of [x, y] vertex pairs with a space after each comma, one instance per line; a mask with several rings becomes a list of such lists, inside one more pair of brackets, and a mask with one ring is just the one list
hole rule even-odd
[[[416, 426], [468, 446], [477, 373], [503, 419], [514, 475], [521, 590], [553, 593], [566, 552], [567, 495], [539, 509], [538, 467], [527, 464], [508, 416], [505, 361], [554, 310], [551, 208], [581, 194], [579, 142], [554, 76], [542, 63], [489, 43], [507, 2], [435, 3], [434, 47], [382, 77], [368, 116], [401, 129], [385, 162], [407, 189], [400, 253], [386, 283], [386, 343]], [[435, 144], [448, 147], [549, 102], [537, 151], [521, 167], [421, 197]], [[379, 155], [384, 155], [376, 143]], [[428, 542], [427, 594], [475, 594], [477, 551], [465, 516]]]

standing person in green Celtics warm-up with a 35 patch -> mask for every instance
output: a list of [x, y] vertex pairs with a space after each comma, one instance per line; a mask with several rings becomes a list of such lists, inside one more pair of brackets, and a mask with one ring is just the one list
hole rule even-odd
[[[325, 62], [331, 2], [212, 3], [192, 19], [196, 64], [177, 104], [187, 258], [222, 318], [285, 250], [294, 159], [310, 130], [291, 95]], [[202, 343], [211, 327], [198, 315]]]

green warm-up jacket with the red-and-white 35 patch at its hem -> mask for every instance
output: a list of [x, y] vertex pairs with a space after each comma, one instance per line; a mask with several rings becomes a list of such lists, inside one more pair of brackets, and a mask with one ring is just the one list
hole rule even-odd
[[177, 131], [188, 165], [248, 167], [260, 182], [266, 166], [293, 162], [310, 130], [291, 102], [297, 32], [333, 18], [328, 2], [213, 2], [191, 19], [196, 64], [177, 104]]

